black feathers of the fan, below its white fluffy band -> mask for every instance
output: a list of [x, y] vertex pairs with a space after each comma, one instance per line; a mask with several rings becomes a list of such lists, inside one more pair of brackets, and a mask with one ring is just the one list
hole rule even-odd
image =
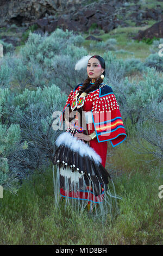
[[[71, 130], [69, 131], [71, 132]], [[84, 145], [84, 144], [83, 144]], [[59, 162], [57, 162], [59, 160]], [[64, 161], [64, 163], [62, 162]], [[84, 173], [83, 178], [86, 186], [93, 187], [93, 193], [95, 196], [102, 194], [102, 187], [107, 190], [107, 184], [109, 183], [110, 174], [102, 166], [101, 162], [95, 162], [95, 159], [92, 156], [80, 155], [78, 151], [74, 151], [72, 148], [68, 147], [64, 143], [61, 143], [60, 146], [56, 149], [55, 155], [53, 158], [53, 164], [58, 164], [59, 168], [66, 167], [70, 168], [71, 172]], [[73, 166], [74, 165], [74, 166]], [[72, 166], [72, 167], [71, 167]], [[77, 170], [78, 168], [78, 170]], [[83, 171], [83, 172], [82, 172]], [[65, 169], [66, 172], [66, 169]], [[71, 179], [68, 178], [68, 186], [84, 186], [82, 184], [83, 179], [79, 179], [79, 184], [71, 184]], [[60, 186], [65, 189], [64, 176], [60, 175]]]

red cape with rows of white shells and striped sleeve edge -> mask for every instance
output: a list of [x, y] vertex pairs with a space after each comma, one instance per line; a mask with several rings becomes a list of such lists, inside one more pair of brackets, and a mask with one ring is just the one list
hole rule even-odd
[[[66, 105], [60, 115], [60, 125], [67, 107], [71, 107], [74, 96], [78, 93], [82, 84], [78, 84], [68, 96]], [[87, 94], [85, 101], [92, 101], [92, 120], [95, 126], [98, 142], [110, 141], [112, 147], [122, 143], [126, 138], [120, 107], [112, 88], [105, 84], [99, 89]]]

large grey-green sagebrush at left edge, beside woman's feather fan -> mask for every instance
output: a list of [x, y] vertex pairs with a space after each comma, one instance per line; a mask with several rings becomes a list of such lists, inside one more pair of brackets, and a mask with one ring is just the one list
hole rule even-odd
[[15, 95], [0, 89], [0, 94], [0, 184], [13, 191], [20, 185], [16, 181], [52, 161], [60, 133], [53, 130], [52, 115], [62, 110], [66, 95], [54, 84]]

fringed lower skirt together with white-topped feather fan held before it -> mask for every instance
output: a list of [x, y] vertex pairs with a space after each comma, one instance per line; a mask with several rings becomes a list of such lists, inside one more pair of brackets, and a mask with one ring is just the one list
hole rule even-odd
[[106, 215], [108, 211], [111, 214], [112, 198], [121, 198], [116, 196], [114, 183], [102, 166], [101, 157], [85, 141], [74, 137], [76, 132], [76, 129], [69, 128], [55, 141], [55, 204], [59, 205], [60, 199], [64, 199], [65, 205], [72, 204], [76, 210], [81, 211], [87, 206], [96, 216]]

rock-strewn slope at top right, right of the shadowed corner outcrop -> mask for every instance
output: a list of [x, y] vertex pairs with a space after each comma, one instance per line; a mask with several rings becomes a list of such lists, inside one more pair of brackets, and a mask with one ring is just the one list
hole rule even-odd
[[80, 8], [73, 6], [57, 18], [49, 16], [32, 23], [39, 25], [43, 32], [52, 32], [57, 27], [80, 32], [87, 31], [93, 26], [108, 33], [119, 25], [130, 26], [130, 22], [134, 22], [135, 26], [144, 26], [148, 24], [148, 20], [163, 20], [161, 5], [152, 9], [143, 9], [141, 4], [136, 4], [139, 1], [134, 2], [135, 4], [130, 4], [126, 1], [101, 0], [85, 6], [81, 5]]

